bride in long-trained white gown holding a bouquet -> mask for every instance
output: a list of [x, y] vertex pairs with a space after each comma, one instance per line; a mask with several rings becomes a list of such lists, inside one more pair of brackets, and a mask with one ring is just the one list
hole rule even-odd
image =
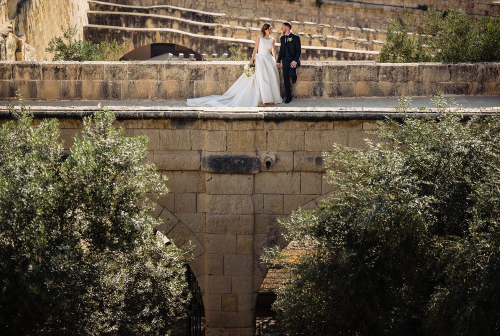
[[274, 37], [270, 35], [272, 26], [264, 23], [260, 32], [248, 63], [252, 65], [255, 62], [255, 72], [249, 77], [245, 73], [241, 74], [222, 95], [187, 99], [188, 106], [256, 107], [259, 104], [282, 102]]

